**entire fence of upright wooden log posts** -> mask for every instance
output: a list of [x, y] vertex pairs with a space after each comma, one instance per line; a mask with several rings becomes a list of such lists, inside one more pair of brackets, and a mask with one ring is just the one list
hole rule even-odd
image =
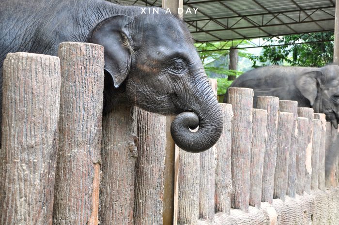
[[[172, 117], [117, 105], [102, 117], [103, 47], [10, 53], [3, 67], [1, 225], [338, 225], [336, 137], [324, 114], [232, 88], [223, 133], [202, 153]], [[216, 81], [211, 80], [216, 90]]]

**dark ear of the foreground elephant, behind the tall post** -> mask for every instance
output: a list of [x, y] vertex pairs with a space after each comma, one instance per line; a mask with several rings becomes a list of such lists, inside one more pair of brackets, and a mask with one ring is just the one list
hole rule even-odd
[[88, 42], [104, 46], [105, 71], [118, 88], [129, 74], [133, 54], [131, 26], [133, 18], [126, 15], [108, 17], [98, 23], [88, 36]]

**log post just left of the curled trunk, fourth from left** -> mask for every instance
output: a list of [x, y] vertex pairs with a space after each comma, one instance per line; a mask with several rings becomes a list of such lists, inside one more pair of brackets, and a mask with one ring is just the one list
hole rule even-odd
[[134, 225], [162, 224], [166, 117], [136, 109], [138, 158], [135, 168]]

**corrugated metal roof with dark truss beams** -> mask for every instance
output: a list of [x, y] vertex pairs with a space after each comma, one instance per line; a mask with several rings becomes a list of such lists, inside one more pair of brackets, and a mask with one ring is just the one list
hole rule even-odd
[[[159, 6], [162, 0], [110, 0]], [[197, 14], [185, 14], [187, 8]], [[184, 20], [197, 42], [334, 30], [335, 0], [184, 0]]]

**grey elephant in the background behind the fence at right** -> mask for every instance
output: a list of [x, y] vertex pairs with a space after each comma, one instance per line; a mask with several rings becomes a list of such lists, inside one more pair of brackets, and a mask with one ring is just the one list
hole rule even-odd
[[[276, 96], [280, 100], [293, 100], [298, 107], [312, 107], [315, 113], [326, 114], [326, 120], [338, 128], [339, 119], [339, 66], [322, 68], [266, 66], [239, 76], [231, 87], [254, 90], [253, 105], [257, 96]], [[227, 92], [224, 102], [227, 102]], [[338, 140], [338, 138], [337, 138]], [[339, 140], [326, 154], [326, 174], [338, 157]]]

